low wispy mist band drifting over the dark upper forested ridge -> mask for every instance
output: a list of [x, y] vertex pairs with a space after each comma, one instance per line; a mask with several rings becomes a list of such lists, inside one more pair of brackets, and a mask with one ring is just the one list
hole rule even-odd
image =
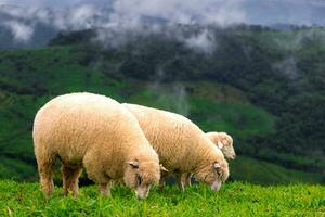
[[164, 26], [147, 26], [139, 23], [112, 25], [107, 28], [98, 29], [96, 38], [94, 38], [93, 41], [101, 42], [108, 48], [117, 48], [148, 36], [177, 40], [190, 49], [208, 54], [212, 53], [218, 48], [214, 30], [208, 26], [200, 27], [196, 30], [191, 28], [191, 31], [188, 31], [186, 26], [176, 24]]

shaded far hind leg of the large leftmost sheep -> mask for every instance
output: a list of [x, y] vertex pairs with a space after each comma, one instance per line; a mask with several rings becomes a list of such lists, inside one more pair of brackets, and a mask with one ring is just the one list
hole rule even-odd
[[69, 191], [72, 191], [73, 195], [77, 196], [79, 194], [78, 179], [82, 171], [82, 168], [69, 168], [66, 165], [62, 164], [61, 171], [63, 176], [64, 194], [67, 195]]

